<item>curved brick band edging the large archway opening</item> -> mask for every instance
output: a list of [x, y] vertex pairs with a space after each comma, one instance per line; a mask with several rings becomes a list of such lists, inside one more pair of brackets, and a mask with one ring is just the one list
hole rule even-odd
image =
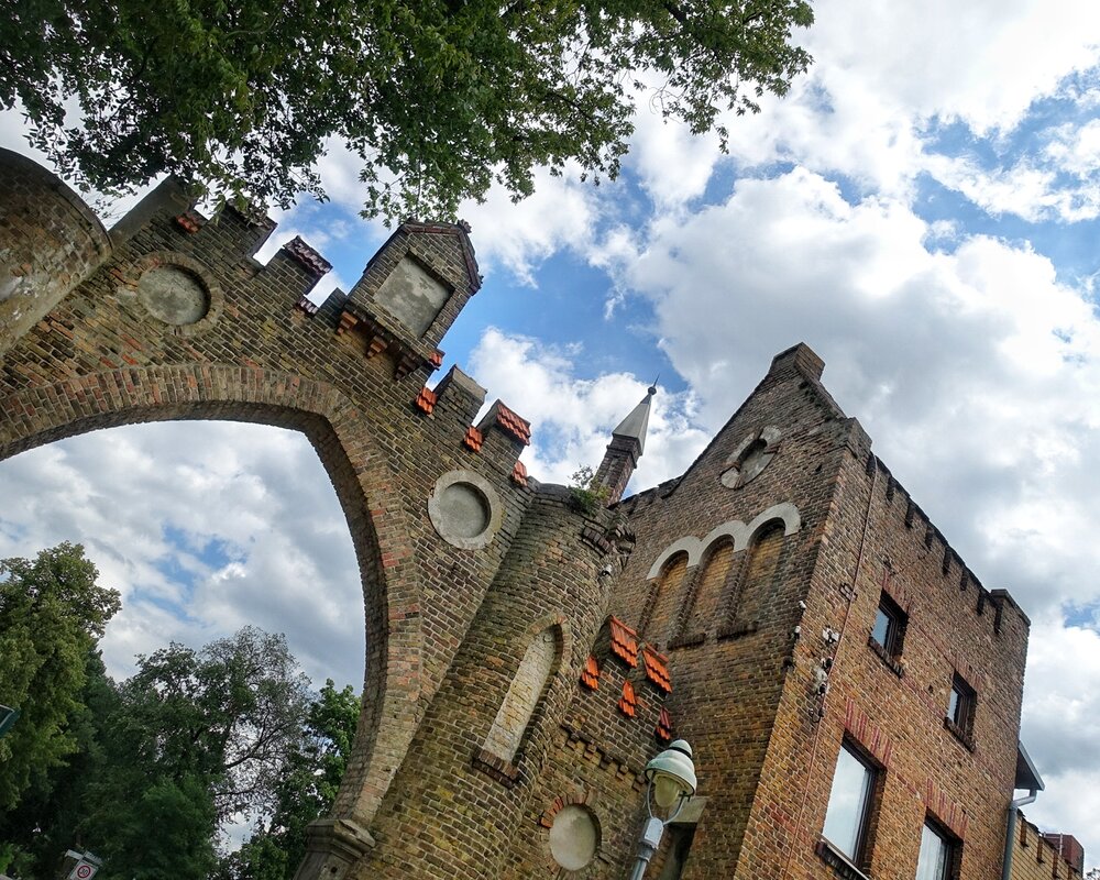
[[212, 364], [109, 370], [0, 399], [0, 461], [100, 428], [173, 419], [299, 430], [332, 480], [359, 561], [366, 619], [362, 712], [333, 814], [365, 826], [418, 721], [422, 649], [411, 542], [371, 420], [334, 386], [273, 370]]

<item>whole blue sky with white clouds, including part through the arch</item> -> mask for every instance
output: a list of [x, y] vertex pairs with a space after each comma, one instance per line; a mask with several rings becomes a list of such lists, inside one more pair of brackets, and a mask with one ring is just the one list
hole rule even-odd
[[[551, 481], [596, 463], [659, 373], [645, 487], [807, 342], [952, 546], [1031, 615], [1023, 735], [1047, 791], [1026, 813], [1100, 857], [1100, 7], [815, 11], [816, 64], [730, 121], [728, 156], [642, 101], [619, 180], [541, 174], [518, 206], [466, 206], [485, 285], [448, 364], [534, 421], [525, 460]], [[19, 130], [8, 117], [0, 143], [25, 152]], [[301, 234], [348, 289], [387, 232], [359, 219], [339, 145], [320, 169], [331, 202], [277, 215], [262, 256]], [[84, 540], [124, 591], [117, 673], [257, 623], [315, 681], [358, 684], [354, 560], [299, 436], [116, 429], [0, 464], [0, 493], [25, 499], [0, 512], [0, 554]]]

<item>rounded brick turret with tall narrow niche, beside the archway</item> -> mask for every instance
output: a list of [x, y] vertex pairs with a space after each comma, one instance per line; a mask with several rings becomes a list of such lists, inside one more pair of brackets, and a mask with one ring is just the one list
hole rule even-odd
[[[544, 811], [538, 780], [560, 754], [563, 716], [607, 603], [607, 551], [587, 531], [602, 534], [607, 517], [582, 529], [570, 498], [553, 486], [536, 495], [383, 802], [372, 826], [378, 845], [359, 877], [508, 876], [521, 816]], [[521, 671], [529, 657], [547, 657], [538, 640], [548, 629], [549, 679], [541, 663]], [[512, 743], [497, 743], [493, 729], [517, 675], [525, 683], [528, 674], [540, 679], [541, 700], [529, 721], [517, 716], [509, 756], [502, 752]]]

